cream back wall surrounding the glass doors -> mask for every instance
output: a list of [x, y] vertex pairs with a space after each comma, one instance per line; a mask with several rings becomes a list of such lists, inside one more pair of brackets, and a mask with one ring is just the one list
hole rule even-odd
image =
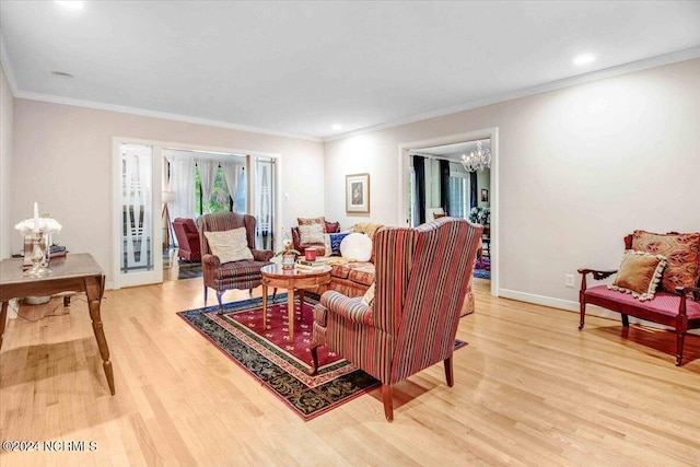
[[[70, 252], [89, 252], [112, 282], [112, 138], [128, 137], [282, 156], [282, 223], [324, 213], [319, 142], [182, 121], [18, 98], [11, 183], [12, 225], [32, 213], [34, 201], [63, 226], [55, 241]], [[4, 234], [4, 232], [3, 232]], [[12, 236], [13, 249], [20, 236]]]

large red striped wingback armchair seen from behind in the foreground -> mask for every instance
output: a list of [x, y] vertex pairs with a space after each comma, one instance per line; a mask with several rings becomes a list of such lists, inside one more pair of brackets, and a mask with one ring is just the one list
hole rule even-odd
[[327, 347], [382, 382], [384, 413], [394, 419], [392, 386], [438, 362], [454, 383], [452, 354], [459, 311], [474, 273], [481, 225], [441, 218], [416, 229], [374, 234], [374, 301], [328, 291], [314, 308], [312, 374]]

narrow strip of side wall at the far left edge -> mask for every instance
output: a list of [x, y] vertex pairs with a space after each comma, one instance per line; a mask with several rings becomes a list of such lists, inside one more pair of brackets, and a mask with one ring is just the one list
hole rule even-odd
[[4, 69], [0, 65], [0, 259], [12, 255], [12, 235], [20, 236], [14, 230], [16, 222], [12, 222], [10, 214], [13, 120], [12, 92]]

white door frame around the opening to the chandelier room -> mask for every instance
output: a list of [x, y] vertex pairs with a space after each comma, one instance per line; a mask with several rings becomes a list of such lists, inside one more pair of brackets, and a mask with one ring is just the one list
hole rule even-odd
[[491, 139], [491, 295], [498, 296], [499, 290], [499, 128], [487, 128], [466, 133], [448, 135], [445, 137], [401, 143], [398, 147], [398, 215], [397, 225], [408, 226], [408, 177], [410, 176], [409, 152], [435, 145], [455, 144], [482, 139]]

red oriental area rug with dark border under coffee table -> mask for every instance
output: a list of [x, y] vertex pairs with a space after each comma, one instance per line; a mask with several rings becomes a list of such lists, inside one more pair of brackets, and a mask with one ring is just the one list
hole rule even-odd
[[[271, 297], [270, 297], [271, 299]], [[313, 306], [305, 297], [304, 310], [295, 302], [294, 341], [289, 339], [285, 296], [268, 300], [267, 329], [262, 329], [262, 299], [180, 312], [178, 315], [234, 362], [257, 378], [304, 420], [318, 417], [366, 393], [380, 382], [363, 371], [318, 348], [319, 369], [310, 376]]]

